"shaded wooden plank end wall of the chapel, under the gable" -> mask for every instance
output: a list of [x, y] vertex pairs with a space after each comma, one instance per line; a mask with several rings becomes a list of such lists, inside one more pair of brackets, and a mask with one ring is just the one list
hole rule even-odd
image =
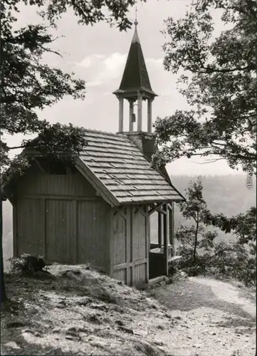
[[81, 174], [28, 175], [17, 192], [15, 256], [40, 254], [46, 261], [90, 262], [108, 270], [110, 206]]

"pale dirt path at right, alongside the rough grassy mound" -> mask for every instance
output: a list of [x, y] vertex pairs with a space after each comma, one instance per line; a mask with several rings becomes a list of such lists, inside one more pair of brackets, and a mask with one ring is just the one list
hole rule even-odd
[[164, 340], [174, 355], [256, 355], [256, 304], [245, 288], [194, 277], [154, 288], [152, 295], [184, 321]]

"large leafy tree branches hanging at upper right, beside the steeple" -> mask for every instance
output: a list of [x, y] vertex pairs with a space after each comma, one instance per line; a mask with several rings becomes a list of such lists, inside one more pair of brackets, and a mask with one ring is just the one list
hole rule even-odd
[[[216, 38], [215, 11], [224, 24]], [[256, 172], [256, 26], [252, 0], [196, 0], [184, 19], [165, 21], [164, 69], [184, 70], [180, 91], [191, 109], [157, 118], [155, 166], [208, 156]]]

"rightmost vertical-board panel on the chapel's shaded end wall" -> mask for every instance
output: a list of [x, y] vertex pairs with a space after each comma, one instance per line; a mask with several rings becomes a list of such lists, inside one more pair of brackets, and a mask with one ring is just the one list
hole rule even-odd
[[109, 207], [104, 202], [78, 201], [78, 263], [107, 268]]

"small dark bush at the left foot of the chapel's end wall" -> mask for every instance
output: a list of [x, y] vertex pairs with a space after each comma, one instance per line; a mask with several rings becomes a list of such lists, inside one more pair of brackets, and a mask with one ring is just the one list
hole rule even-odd
[[46, 267], [43, 256], [31, 256], [28, 253], [23, 253], [19, 257], [9, 258], [11, 261], [11, 271], [13, 273], [37, 273]]

